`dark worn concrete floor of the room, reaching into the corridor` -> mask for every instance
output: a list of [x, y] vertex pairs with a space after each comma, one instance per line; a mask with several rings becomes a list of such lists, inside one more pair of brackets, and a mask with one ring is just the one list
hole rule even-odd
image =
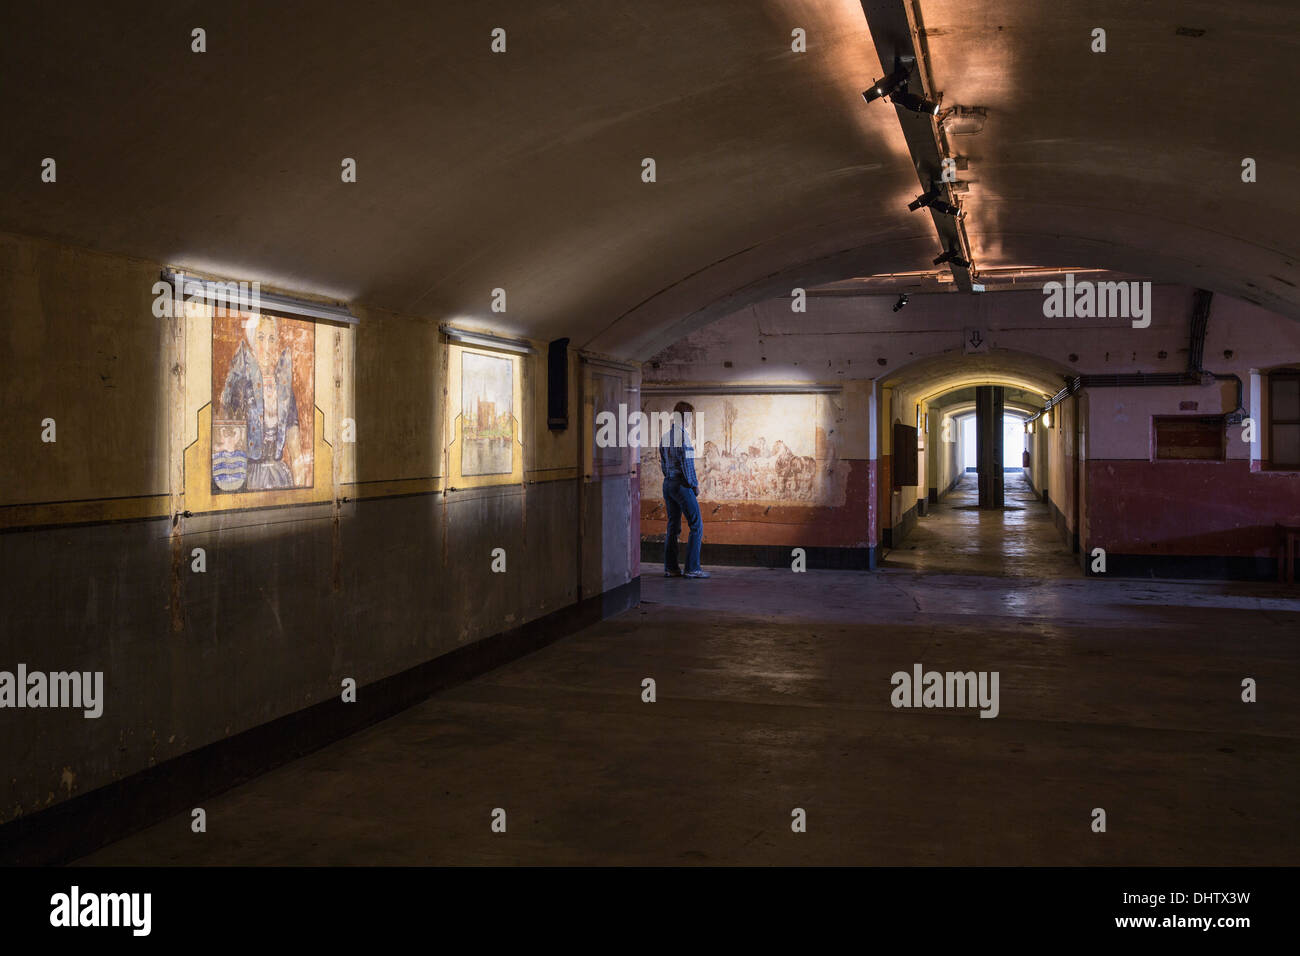
[[[915, 572], [644, 566], [638, 609], [82, 862], [1300, 862], [1295, 592], [1084, 580], [963, 496]], [[1001, 714], [893, 709], [916, 662], [998, 671]]]

